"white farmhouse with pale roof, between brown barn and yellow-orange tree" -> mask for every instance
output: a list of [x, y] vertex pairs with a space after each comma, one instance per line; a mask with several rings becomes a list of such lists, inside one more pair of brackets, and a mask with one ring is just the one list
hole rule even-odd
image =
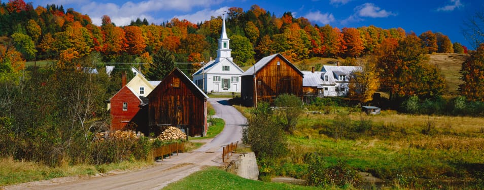
[[323, 96], [348, 95], [351, 74], [358, 70], [361, 70], [360, 66], [323, 65], [321, 72], [318, 72], [321, 76], [319, 87], [323, 90]]

